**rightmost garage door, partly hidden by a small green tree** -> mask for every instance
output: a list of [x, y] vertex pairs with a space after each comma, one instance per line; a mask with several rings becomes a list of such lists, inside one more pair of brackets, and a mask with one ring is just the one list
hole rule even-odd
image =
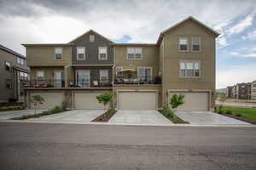
[[[173, 93], [169, 95], [171, 98]], [[208, 111], [208, 93], [178, 93], [185, 96], [183, 105], [177, 107], [177, 111]]]

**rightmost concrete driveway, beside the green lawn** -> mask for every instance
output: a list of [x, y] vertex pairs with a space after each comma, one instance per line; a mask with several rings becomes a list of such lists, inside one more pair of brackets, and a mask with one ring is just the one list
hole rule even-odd
[[218, 115], [211, 111], [176, 111], [175, 114], [184, 121], [196, 125], [245, 125], [247, 122], [241, 122], [228, 116]]

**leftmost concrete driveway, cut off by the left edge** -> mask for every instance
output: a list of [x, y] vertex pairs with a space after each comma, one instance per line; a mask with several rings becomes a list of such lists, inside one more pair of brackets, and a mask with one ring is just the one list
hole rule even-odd
[[[45, 110], [37, 110], [37, 114], [41, 113]], [[28, 115], [34, 115], [35, 110], [20, 110], [20, 111], [1, 111], [0, 112], [0, 120], [8, 120], [15, 117], [20, 116], [28, 116]]]

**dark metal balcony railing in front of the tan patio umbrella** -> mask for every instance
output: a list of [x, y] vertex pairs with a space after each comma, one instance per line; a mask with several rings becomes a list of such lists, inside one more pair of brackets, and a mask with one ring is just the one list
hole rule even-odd
[[120, 75], [114, 79], [115, 84], [161, 84], [161, 77]]

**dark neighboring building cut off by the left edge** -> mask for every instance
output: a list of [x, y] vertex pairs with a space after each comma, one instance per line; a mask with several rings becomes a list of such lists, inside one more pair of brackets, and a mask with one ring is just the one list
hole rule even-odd
[[0, 102], [23, 101], [21, 87], [29, 78], [26, 57], [0, 44], [0, 62]]

